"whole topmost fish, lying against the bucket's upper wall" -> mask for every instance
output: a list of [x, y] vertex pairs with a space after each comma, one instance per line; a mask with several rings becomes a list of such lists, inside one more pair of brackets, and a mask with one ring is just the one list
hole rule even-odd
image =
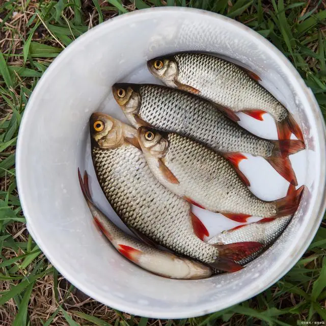
[[147, 67], [167, 86], [201, 96], [233, 113], [243, 112], [260, 121], [269, 113], [280, 140], [290, 139], [291, 133], [304, 140], [286, 107], [259, 84], [257, 74], [246, 68], [207, 53], [176, 53], [149, 60]]

